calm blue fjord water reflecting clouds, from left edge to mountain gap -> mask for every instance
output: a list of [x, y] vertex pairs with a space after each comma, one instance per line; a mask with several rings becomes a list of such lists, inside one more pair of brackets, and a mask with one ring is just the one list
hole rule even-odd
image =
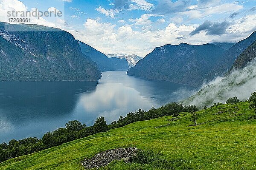
[[148, 110], [184, 99], [192, 87], [102, 73], [99, 82], [0, 82], [0, 143], [41, 138], [69, 120], [90, 126], [98, 116], [108, 123], [130, 111]]

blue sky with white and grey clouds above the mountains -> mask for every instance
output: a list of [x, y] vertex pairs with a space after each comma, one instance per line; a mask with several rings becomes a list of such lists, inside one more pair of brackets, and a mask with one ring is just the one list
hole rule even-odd
[[1, 8], [56, 8], [63, 17], [32, 23], [64, 29], [106, 54], [145, 57], [156, 46], [238, 42], [256, 31], [256, 0], [0, 0]]

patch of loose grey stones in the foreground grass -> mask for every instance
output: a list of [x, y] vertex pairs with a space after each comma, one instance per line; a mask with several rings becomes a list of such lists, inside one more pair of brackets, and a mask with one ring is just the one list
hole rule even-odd
[[136, 147], [118, 148], [106, 150], [98, 153], [90, 159], [82, 162], [82, 165], [86, 169], [93, 169], [104, 167], [114, 160], [123, 160], [125, 162], [131, 162], [132, 158], [136, 156], [138, 149]]

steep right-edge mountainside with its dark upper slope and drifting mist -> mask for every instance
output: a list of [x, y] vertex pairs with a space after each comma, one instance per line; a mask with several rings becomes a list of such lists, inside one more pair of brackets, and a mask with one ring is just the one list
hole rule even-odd
[[249, 98], [256, 90], [256, 41], [243, 51], [225, 77], [218, 77], [195, 95], [182, 101], [184, 105], [196, 105], [198, 108], [213, 103], [226, 102], [237, 96], [241, 101]]

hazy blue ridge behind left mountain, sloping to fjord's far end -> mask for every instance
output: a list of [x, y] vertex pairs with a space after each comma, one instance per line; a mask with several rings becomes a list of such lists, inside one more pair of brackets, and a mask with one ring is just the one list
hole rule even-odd
[[114, 71], [114, 70], [128, 70], [129, 65], [126, 59], [119, 59], [116, 57], [108, 58], [102, 52], [97, 51], [90, 45], [79, 41], [82, 53], [89, 56], [94, 62], [97, 63], [101, 71]]

